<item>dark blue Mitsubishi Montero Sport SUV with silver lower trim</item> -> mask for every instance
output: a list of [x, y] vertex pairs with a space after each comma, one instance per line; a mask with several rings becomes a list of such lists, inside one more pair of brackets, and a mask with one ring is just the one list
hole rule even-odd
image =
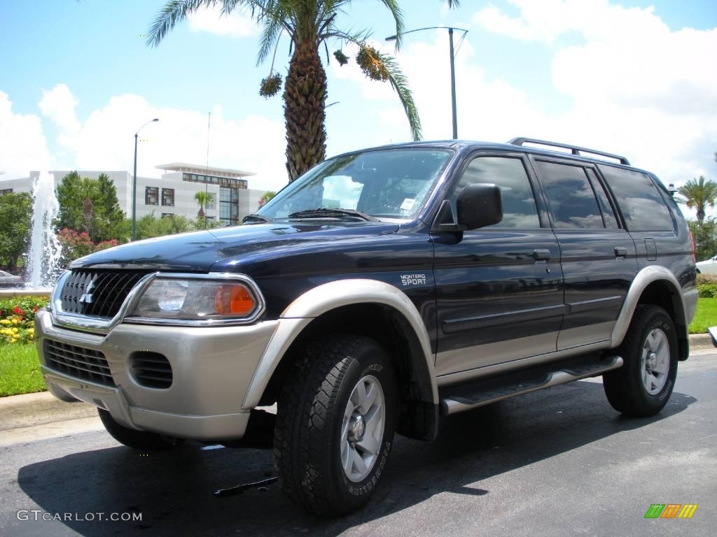
[[75, 261], [37, 346], [123, 444], [269, 435], [282, 490], [341, 514], [394, 432], [443, 415], [599, 375], [619, 412], [659, 412], [694, 282], [678, 206], [624, 157], [417, 142], [326, 160], [242, 226]]

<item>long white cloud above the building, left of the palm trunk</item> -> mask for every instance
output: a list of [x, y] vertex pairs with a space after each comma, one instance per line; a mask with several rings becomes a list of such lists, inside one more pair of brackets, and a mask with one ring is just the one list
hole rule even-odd
[[[138, 95], [110, 98], [108, 105], [93, 111], [72, 137], [77, 168], [85, 170], [131, 170], [134, 133], [138, 135], [138, 175], [158, 176], [156, 165], [206, 163], [207, 115], [196, 110], [157, 107]], [[260, 173], [250, 178], [250, 188], [276, 190], [287, 182], [284, 167], [284, 129], [281, 122], [260, 116], [242, 120], [212, 111], [209, 165]]]

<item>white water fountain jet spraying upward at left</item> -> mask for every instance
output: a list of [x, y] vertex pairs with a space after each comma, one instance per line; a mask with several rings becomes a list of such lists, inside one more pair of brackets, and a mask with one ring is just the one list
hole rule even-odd
[[32, 238], [26, 269], [32, 289], [49, 289], [60, 276], [62, 248], [52, 228], [59, 212], [54, 175], [40, 172], [32, 185]]

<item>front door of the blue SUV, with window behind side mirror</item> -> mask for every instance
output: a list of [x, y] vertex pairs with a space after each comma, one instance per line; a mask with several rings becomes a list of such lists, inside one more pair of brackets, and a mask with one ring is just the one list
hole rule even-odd
[[556, 349], [564, 309], [558, 241], [528, 169], [522, 153], [472, 155], [450, 195], [454, 215], [462, 188], [495, 183], [503, 221], [432, 234], [439, 375]]

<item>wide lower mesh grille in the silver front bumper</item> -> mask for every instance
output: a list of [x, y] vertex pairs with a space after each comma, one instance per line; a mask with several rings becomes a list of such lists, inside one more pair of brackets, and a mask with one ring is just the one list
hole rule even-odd
[[115, 386], [110, 366], [100, 351], [45, 339], [44, 359], [47, 367], [54, 371], [76, 379]]

